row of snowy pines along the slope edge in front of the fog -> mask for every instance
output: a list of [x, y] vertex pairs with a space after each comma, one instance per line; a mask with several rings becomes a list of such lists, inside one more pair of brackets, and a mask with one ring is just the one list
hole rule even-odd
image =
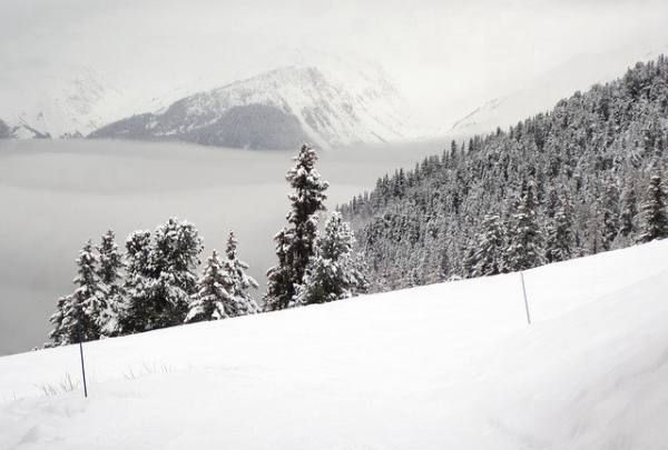
[[261, 307], [258, 283], [238, 258], [230, 232], [225, 253], [213, 250], [197, 277], [204, 240], [194, 224], [171, 218], [155, 231], [135, 231], [125, 252], [112, 231], [86, 242], [76, 260], [75, 291], [51, 316], [47, 347], [131, 334], [181, 323], [220, 320], [346, 299], [367, 289], [365, 264], [350, 226], [334, 211], [318, 231], [326, 181], [315, 170], [315, 150], [303, 146], [286, 176], [288, 226], [274, 238], [277, 266], [267, 272]]

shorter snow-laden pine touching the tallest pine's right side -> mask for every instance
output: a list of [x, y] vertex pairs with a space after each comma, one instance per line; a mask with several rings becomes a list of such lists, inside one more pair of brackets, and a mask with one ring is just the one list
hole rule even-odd
[[346, 299], [366, 292], [364, 261], [354, 251], [355, 238], [341, 213], [333, 212], [316, 240], [295, 303], [311, 304]]

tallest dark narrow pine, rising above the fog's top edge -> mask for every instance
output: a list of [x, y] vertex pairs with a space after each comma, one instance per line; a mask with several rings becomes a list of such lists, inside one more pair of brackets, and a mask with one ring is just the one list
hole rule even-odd
[[[302, 283], [317, 233], [317, 212], [325, 209], [326, 181], [315, 170], [317, 154], [307, 144], [302, 146], [295, 158], [295, 167], [285, 179], [294, 192], [288, 196], [292, 208], [287, 213], [287, 229], [276, 234], [278, 266], [267, 271], [269, 289], [265, 296], [268, 310], [287, 308], [295, 296], [296, 286]], [[278, 254], [278, 252], [283, 254]]]

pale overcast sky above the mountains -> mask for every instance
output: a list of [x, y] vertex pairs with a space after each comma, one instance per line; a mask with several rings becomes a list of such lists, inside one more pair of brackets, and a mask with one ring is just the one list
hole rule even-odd
[[82, 64], [140, 89], [229, 82], [299, 48], [354, 51], [446, 120], [578, 53], [668, 43], [665, 0], [0, 0], [0, 17], [14, 73]]

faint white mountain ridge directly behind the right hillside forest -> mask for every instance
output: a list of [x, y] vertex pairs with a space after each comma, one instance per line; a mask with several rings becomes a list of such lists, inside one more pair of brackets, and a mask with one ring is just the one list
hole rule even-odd
[[497, 127], [507, 128], [525, 117], [551, 109], [559, 100], [595, 83], [613, 80], [628, 68], [628, 61], [656, 59], [668, 52], [668, 46], [657, 50], [617, 49], [602, 53], [579, 54], [547, 70], [521, 88], [494, 98], [459, 119], [450, 136], [487, 133]]

